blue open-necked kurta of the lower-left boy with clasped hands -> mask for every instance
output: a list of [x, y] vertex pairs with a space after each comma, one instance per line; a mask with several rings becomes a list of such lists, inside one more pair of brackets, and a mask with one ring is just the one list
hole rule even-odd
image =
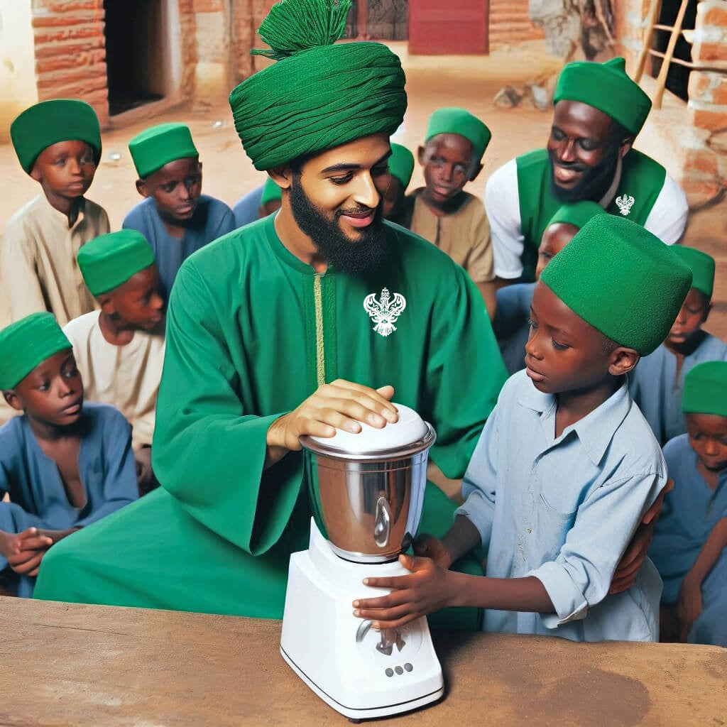
[[[15, 417], [0, 428], [0, 530], [20, 533], [81, 528], [137, 499], [131, 427], [113, 406], [84, 403], [84, 437], [79, 474], [87, 502], [68, 502], [56, 463], [44, 454], [28, 417]], [[7, 560], [0, 555], [0, 569]], [[33, 595], [35, 578], [20, 577], [18, 595]]]

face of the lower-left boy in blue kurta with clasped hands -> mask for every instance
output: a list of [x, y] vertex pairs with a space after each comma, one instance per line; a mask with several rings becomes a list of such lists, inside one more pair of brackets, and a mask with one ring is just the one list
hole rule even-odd
[[41, 361], [16, 387], [4, 392], [17, 411], [44, 425], [67, 427], [81, 417], [84, 385], [70, 348]]

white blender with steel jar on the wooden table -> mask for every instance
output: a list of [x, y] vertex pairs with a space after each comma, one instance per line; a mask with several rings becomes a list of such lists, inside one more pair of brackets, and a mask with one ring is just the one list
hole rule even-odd
[[290, 558], [281, 654], [350, 720], [395, 715], [443, 694], [427, 619], [377, 631], [353, 616], [356, 598], [385, 595], [369, 576], [409, 573], [398, 555], [417, 533], [433, 427], [395, 404], [398, 422], [332, 438], [303, 436], [313, 518], [308, 550]]

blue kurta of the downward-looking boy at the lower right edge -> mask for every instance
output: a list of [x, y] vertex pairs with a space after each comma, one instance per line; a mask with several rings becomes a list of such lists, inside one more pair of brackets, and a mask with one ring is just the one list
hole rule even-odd
[[[684, 577], [707, 538], [727, 518], [727, 470], [712, 490], [696, 469], [696, 452], [682, 434], [664, 447], [674, 489], [664, 499], [649, 557], [664, 582], [664, 603], [676, 603]], [[702, 613], [689, 632], [691, 643], [727, 646], [727, 553], [723, 552], [702, 582]]]

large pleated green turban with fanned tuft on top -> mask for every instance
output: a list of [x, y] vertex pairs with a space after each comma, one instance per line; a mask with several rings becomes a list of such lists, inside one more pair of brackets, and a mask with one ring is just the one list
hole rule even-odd
[[380, 43], [334, 45], [351, 0], [282, 0], [259, 33], [277, 63], [230, 93], [235, 129], [256, 169], [273, 169], [403, 121], [401, 62]]

